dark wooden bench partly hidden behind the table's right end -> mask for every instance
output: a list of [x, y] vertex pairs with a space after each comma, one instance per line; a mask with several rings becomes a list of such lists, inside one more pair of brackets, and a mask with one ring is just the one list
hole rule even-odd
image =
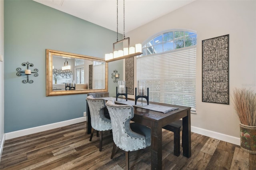
[[182, 120], [178, 120], [163, 127], [174, 132], [174, 155], [180, 156], [180, 131], [182, 130]]

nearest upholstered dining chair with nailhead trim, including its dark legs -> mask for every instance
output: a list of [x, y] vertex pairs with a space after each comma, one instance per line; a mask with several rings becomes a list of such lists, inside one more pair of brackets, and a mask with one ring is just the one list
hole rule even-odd
[[134, 117], [134, 108], [131, 105], [116, 105], [113, 99], [106, 103], [113, 132], [113, 150], [111, 159], [114, 157], [116, 146], [125, 151], [126, 170], [129, 169], [129, 152], [140, 150], [150, 146], [150, 128], [138, 123], [130, 123]]

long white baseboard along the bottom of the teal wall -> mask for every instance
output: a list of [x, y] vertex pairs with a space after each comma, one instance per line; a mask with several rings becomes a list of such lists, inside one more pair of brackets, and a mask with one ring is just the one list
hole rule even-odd
[[17, 131], [14, 131], [14, 132], [6, 133], [5, 134], [5, 140], [12, 139], [12, 138], [17, 138], [17, 137], [20, 137], [20, 136], [25, 136], [25, 135], [33, 134], [33, 133], [37, 133], [37, 132], [42, 132], [42, 131], [50, 130], [50, 129], [53, 129], [53, 128], [64, 127], [64, 126], [68, 126], [68, 125], [72, 125], [72, 124], [76, 124], [76, 123], [80, 123], [80, 122], [84, 122], [84, 121], [86, 121], [86, 117], [80, 117], [80, 118], [71, 119], [71, 120], [68, 120], [68, 121], [52, 123], [52, 124], [43, 125], [43, 126], [39, 126], [39, 127], [17, 130]]

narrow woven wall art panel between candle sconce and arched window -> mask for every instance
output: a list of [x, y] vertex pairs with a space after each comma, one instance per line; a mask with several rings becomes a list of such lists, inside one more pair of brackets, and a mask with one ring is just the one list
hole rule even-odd
[[134, 94], [134, 57], [125, 59], [125, 81], [127, 94]]

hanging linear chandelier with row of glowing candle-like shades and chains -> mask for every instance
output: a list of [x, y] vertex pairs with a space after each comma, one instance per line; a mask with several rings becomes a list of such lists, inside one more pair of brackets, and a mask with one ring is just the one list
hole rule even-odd
[[[118, 0], [117, 2], [117, 7], [116, 7], [116, 20], [117, 20], [117, 27], [116, 27], [116, 33], [117, 33], [117, 40], [115, 43], [113, 43], [113, 53], [108, 53], [105, 54], [105, 61], [106, 62], [111, 62], [111, 61], [116, 61], [120, 59], [125, 59], [125, 58], [130, 58], [134, 57], [137, 55], [142, 54], [142, 47], [141, 44], [136, 44], [135, 47], [130, 47], [130, 38], [125, 38], [125, 29], [124, 29], [124, 39], [118, 41]], [[124, 43], [126, 43], [126, 46], [124, 47]], [[116, 50], [115, 46], [122, 46], [122, 49]]]

